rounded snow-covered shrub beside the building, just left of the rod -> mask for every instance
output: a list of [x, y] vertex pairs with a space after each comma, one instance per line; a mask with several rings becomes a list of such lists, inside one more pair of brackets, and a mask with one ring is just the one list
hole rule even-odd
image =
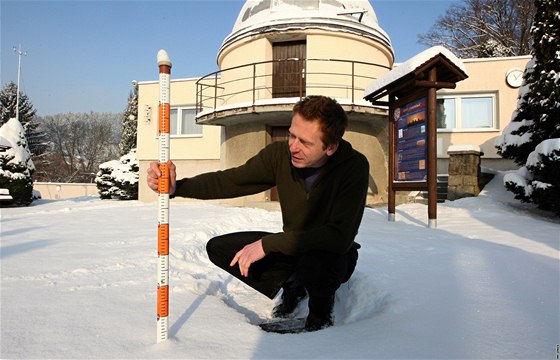
[[138, 199], [138, 159], [136, 149], [121, 156], [119, 160], [107, 161], [99, 165], [95, 178], [101, 199]]

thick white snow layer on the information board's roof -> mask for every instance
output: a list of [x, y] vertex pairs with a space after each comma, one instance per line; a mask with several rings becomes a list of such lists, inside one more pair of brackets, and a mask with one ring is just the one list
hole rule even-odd
[[444, 48], [443, 46], [434, 46], [425, 51], [422, 51], [416, 56], [408, 59], [402, 64], [399, 64], [396, 68], [389, 71], [385, 75], [381, 76], [379, 79], [373, 81], [364, 91], [364, 97], [383, 89], [387, 85], [399, 80], [400, 78], [408, 75], [422, 64], [425, 64], [430, 59], [434, 58], [437, 55], [445, 56], [449, 61], [451, 61], [455, 66], [457, 66], [461, 71], [463, 71], [466, 75], [467, 68], [463, 64], [463, 62], [455, 56], [451, 51]]

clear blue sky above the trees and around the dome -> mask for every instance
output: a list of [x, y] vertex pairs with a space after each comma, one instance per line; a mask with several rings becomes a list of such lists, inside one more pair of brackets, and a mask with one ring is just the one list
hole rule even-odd
[[[26, 1], [0, 0], [2, 87], [17, 81], [39, 115], [121, 112], [131, 81], [156, 80], [165, 49], [172, 78], [218, 70], [216, 55], [242, 0]], [[425, 33], [453, 0], [371, 0], [393, 43], [396, 61], [424, 50]]]

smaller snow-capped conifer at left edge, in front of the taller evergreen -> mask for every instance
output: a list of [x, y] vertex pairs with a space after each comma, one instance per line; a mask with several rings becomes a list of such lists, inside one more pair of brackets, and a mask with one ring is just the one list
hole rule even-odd
[[9, 148], [0, 151], [0, 188], [8, 189], [12, 205], [29, 205], [33, 201], [32, 175], [35, 165], [25, 138], [23, 126], [15, 118], [0, 127], [2, 143]]

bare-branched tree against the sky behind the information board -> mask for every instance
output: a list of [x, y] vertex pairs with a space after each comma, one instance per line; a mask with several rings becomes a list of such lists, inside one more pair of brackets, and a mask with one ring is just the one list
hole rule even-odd
[[534, 15], [532, 0], [463, 0], [418, 41], [442, 45], [462, 58], [527, 55]]

